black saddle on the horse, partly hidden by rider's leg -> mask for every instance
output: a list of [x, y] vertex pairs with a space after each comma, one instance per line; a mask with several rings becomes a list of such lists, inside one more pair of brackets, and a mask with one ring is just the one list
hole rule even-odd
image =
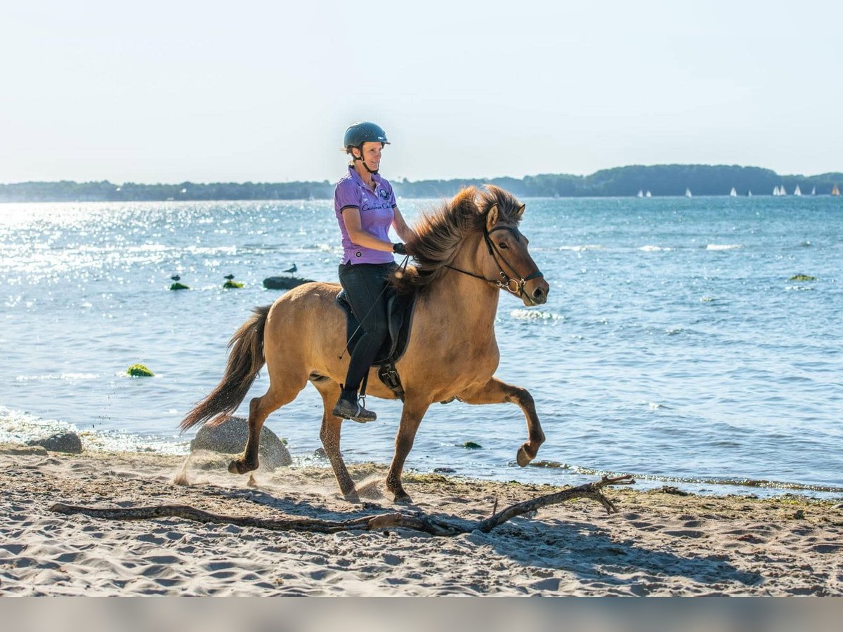
[[[386, 314], [389, 323], [389, 336], [384, 340], [378, 354], [375, 356], [373, 367], [378, 367], [378, 378], [395, 396], [404, 401], [404, 388], [401, 386], [401, 378], [395, 368], [407, 348], [407, 341], [410, 340], [410, 329], [413, 322], [413, 310], [416, 308], [416, 292], [411, 294], [399, 294], [395, 288], [386, 288]], [[357, 341], [362, 336], [360, 323], [352, 312], [351, 303], [346, 299], [346, 291], [341, 290], [336, 295], [336, 304], [346, 313], [346, 350], [349, 354], [354, 351]], [[366, 394], [366, 383], [368, 373], [363, 378], [360, 394]]]

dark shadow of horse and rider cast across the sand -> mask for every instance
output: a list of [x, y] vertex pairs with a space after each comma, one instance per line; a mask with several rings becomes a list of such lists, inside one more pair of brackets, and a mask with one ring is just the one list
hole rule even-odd
[[[378, 514], [419, 513], [438, 521], [470, 526], [470, 519], [443, 511], [425, 511], [419, 505], [395, 506], [391, 503], [362, 501], [348, 509], [331, 508], [315, 495], [277, 496], [255, 488], [215, 488], [219, 495], [271, 507], [285, 515], [319, 517], [345, 521]], [[620, 516], [613, 519], [623, 519]], [[433, 537], [406, 529], [390, 528], [399, 537]], [[559, 518], [534, 520], [516, 517], [491, 533], [473, 531], [459, 536], [472, 543], [491, 547], [497, 554], [535, 570], [537, 581], [543, 570], [564, 570], [582, 581], [614, 586], [620, 592], [646, 595], [670, 577], [685, 577], [707, 586], [740, 584], [757, 586], [763, 576], [746, 572], [729, 563], [720, 554], [690, 557], [664, 548], [647, 548], [634, 540], [613, 538], [609, 529], [582, 519], [566, 522]], [[552, 580], [551, 580], [552, 582]], [[552, 587], [552, 586], [551, 586]]]

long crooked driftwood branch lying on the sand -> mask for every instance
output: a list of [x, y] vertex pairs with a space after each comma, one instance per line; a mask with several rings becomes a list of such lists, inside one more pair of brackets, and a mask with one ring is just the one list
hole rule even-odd
[[[226, 516], [196, 509], [190, 505], [156, 505], [146, 507], [89, 507], [67, 505], [56, 502], [50, 511], [72, 516], [82, 514], [106, 520], [150, 520], [153, 518], [176, 517], [196, 522], [213, 522], [217, 524], [234, 524], [238, 527], [257, 527], [271, 531], [309, 531], [314, 533], [337, 533], [340, 531], [378, 531], [385, 528], [408, 528], [437, 536], [454, 536], [460, 533], [481, 531], [489, 533], [493, 528], [513, 517], [522, 516], [541, 507], [556, 505], [575, 498], [590, 498], [606, 508], [607, 513], [617, 511], [614, 503], [603, 495], [602, 488], [607, 485], [629, 485], [630, 475], [618, 476], [614, 479], [603, 479], [573, 487], [570, 490], [543, 495], [530, 501], [516, 503], [502, 511], [497, 511], [486, 520], [470, 521], [456, 517], [433, 517], [423, 514], [407, 514], [401, 512], [382, 513], [374, 516], [362, 516], [348, 520], [322, 520], [321, 518], [286, 517], [286, 518], [256, 518], [244, 516]], [[497, 506], [497, 503], [496, 503]]]

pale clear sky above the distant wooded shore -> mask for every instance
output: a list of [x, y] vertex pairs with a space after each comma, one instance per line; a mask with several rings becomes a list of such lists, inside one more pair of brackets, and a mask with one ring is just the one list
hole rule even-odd
[[843, 171], [843, 3], [40, 2], [0, 13], [0, 183], [626, 164]]

